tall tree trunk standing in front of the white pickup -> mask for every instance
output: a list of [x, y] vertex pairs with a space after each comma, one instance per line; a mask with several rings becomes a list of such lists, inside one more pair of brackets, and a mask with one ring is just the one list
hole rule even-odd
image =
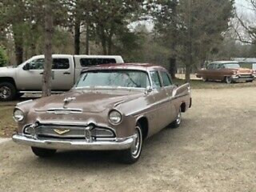
[[50, 96], [52, 67], [52, 38], [54, 34], [54, 18], [51, 2], [46, 2], [45, 16], [45, 62], [42, 74], [42, 97]]

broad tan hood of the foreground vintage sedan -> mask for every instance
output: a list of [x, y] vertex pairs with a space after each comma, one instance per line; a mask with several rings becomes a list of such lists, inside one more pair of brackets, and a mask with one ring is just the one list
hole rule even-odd
[[[112, 109], [122, 102], [139, 98], [144, 95], [142, 90], [74, 90], [66, 94], [58, 94], [40, 98], [34, 104], [34, 110], [46, 111], [55, 108], [81, 109], [83, 112], [98, 113]], [[65, 98], [71, 98], [64, 104]]]

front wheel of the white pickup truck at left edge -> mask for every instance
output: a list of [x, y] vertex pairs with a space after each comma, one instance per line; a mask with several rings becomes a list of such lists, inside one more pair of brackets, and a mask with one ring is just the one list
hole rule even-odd
[[10, 82], [0, 83], [0, 101], [7, 102], [14, 100], [16, 96], [16, 87]]

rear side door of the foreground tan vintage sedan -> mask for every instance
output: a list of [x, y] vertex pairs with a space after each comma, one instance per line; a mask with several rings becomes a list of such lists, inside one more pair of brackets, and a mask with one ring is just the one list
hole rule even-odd
[[168, 107], [168, 110], [166, 111], [166, 114], [168, 114], [168, 117], [166, 118], [167, 125], [170, 124], [170, 122], [173, 122], [178, 115], [178, 110], [175, 108], [174, 101], [172, 100], [173, 92], [176, 86], [173, 85], [171, 82], [170, 74], [168, 74], [166, 71], [160, 71], [160, 76], [162, 79], [162, 86], [166, 90], [166, 96], [168, 96], [169, 100], [166, 102], [166, 105]]

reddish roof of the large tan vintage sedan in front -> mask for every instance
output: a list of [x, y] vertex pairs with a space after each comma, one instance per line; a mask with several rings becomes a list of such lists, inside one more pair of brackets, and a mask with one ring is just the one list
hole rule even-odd
[[164, 70], [166, 69], [162, 66], [150, 64], [150, 63], [108, 63], [101, 64], [98, 66], [89, 66], [88, 68], [82, 70], [82, 72], [87, 70]]

